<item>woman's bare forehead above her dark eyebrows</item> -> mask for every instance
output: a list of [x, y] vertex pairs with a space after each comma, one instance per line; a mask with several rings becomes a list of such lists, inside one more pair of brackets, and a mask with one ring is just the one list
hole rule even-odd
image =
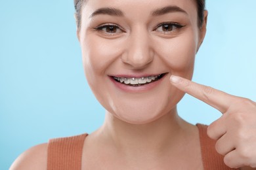
[[121, 10], [124, 16], [137, 18], [168, 6], [179, 7], [192, 19], [197, 17], [196, 0], [87, 0], [83, 13], [90, 16], [98, 9], [114, 8]]

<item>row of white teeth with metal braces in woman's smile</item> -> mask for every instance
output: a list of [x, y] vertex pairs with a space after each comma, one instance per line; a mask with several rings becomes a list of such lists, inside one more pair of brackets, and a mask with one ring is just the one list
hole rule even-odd
[[152, 82], [157, 78], [160, 78], [160, 76], [161, 75], [146, 76], [146, 77], [142, 76], [141, 78], [114, 77], [114, 79], [125, 84], [140, 85], [140, 84], [146, 84], [147, 82]]

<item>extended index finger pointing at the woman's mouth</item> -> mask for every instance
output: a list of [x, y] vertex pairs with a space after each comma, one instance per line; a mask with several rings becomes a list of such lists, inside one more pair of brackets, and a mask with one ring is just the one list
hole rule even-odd
[[222, 113], [228, 110], [228, 107], [232, 102], [232, 97], [234, 97], [228, 93], [224, 93], [209, 86], [203, 86], [202, 84], [192, 82], [180, 76], [172, 75], [170, 80], [175, 87], [179, 88], [179, 90], [200, 99]]

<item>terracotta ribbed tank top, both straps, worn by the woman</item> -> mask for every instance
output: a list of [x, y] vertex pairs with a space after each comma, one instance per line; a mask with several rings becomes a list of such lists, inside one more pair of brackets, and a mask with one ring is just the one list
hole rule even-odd
[[[207, 126], [196, 125], [200, 134], [203, 169], [228, 170], [223, 156], [215, 150], [215, 141], [207, 136]], [[51, 139], [48, 144], [47, 170], [81, 170], [83, 143], [87, 134]]]

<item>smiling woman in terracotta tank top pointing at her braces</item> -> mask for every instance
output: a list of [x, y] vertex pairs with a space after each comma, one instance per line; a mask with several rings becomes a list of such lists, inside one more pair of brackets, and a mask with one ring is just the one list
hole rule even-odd
[[[232, 169], [256, 167], [256, 104], [191, 82], [203, 42], [202, 0], [75, 1], [83, 68], [104, 124], [52, 139], [11, 169]], [[194, 126], [177, 112], [188, 93], [223, 116]], [[248, 167], [248, 168], [250, 168]]]

